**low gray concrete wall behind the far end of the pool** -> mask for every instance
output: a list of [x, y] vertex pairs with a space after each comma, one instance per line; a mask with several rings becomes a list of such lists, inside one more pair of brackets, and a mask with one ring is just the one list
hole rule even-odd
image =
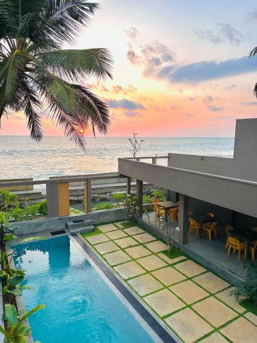
[[26, 233], [39, 233], [40, 231], [56, 231], [65, 228], [66, 222], [72, 222], [79, 219], [91, 219], [94, 224], [105, 222], [116, 222], [125, 220], [124, 209], [110, 209], [96, 211], [85, 215], [75, 215], [68, 217], [53, 217], [45, 220], [31, 220], [29, 222], [16, 222], [14, 225], [18, 228], [15, 235], [24, 235]]

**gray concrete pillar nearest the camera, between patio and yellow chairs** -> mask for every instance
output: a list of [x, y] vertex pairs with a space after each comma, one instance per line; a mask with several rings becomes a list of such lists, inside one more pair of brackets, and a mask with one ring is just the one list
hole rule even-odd
[[183, 246], [187, 244], [188, 238], [188, 196], [180, 194], [180, 211], [179, 211], [179, 226], [178, 242]]

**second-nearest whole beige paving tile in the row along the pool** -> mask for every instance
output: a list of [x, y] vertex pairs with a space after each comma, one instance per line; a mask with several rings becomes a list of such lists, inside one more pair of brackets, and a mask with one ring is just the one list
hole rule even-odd
[[161, 317], [185, 307], [185, 304], [168, 289], [145, 296], [144, 300]]

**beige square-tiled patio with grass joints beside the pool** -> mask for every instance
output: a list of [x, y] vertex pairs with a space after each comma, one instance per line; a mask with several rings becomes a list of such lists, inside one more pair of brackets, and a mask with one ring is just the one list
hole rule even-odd
[[99, 226], [84, 238], [184, 342], [256, 342], [257, 316], [229, 296], [232, 285], [137, 226]]

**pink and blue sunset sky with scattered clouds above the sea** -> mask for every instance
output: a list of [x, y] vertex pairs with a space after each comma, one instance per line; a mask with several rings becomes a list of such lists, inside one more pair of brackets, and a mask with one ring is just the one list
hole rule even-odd
[[[109, 136], [232, 137], [236, 118], [256, 117], [256, 1], [99, 2], [71, 48], [112, 52], [114, 80], [82, 80], [110, 106]], [[60, 134], [47, 117], [44, 131]], [[23, 115], [0, 134], [27, 134]]]

